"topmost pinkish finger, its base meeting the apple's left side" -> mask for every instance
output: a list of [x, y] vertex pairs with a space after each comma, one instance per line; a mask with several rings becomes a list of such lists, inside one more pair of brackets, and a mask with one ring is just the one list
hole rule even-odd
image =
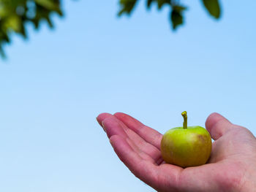
[[117, 112], [114, 116], [121, 120], [128, 128], [132, 129], [132, 131], [135, 131], [146, 142], [160, 149], [162, 134], [158, 131], [143, 125], [140, 121], [122, 112]]

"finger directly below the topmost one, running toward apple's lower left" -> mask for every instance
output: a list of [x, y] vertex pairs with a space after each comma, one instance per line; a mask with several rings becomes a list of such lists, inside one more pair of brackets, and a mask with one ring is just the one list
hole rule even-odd
[[151, 144], [148, 144], [143, 140], [138, 134], [136, 134], [131, 129], [127, 128], [118, 118], [112, 117], [105, 118], [102, 121], [102, 126], [105, 128], [105, 131], [108, 137], [113, 135], [118, 135], [125, 139], [129, 138], [129, 144], [137, 153], [141, 155], [143, 159], [154, 162], [156, 164], [161, 163], [161, 153], [160, 151]]

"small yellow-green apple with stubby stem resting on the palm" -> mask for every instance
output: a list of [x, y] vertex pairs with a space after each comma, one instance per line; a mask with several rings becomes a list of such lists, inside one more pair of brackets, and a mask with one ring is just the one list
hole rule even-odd
[[161, 141], [162, 158], [181, 167], [206, 164], [211, 155], [211, 135], [206, 128], [187, 126], [187, 112], [182, 112], [183, 127], [167, 131]]

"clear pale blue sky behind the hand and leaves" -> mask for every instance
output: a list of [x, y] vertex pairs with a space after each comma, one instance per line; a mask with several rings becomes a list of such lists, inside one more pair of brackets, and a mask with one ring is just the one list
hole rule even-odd
[[222, 1], [222, 19], [189, 5], [117, 18], [118, 1], [65, 1], [56, 28], [29, 27], [0, 61], [0, 191], [154, 191], [118, 160], [95, 118], [127, 112], [165, 133], [211, 112], [256, 134], [255, 1]]

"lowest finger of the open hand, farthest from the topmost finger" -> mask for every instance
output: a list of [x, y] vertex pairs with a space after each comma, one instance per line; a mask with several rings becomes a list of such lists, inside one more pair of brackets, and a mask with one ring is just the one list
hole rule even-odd
[[150, 161], [145, 161], [136, 153], [127, 139], [114, 135], [110, 137], [110, 143], [113, 146], [118, 158], [143, 182], [153, 188], [157, 188], [157, 166]]

